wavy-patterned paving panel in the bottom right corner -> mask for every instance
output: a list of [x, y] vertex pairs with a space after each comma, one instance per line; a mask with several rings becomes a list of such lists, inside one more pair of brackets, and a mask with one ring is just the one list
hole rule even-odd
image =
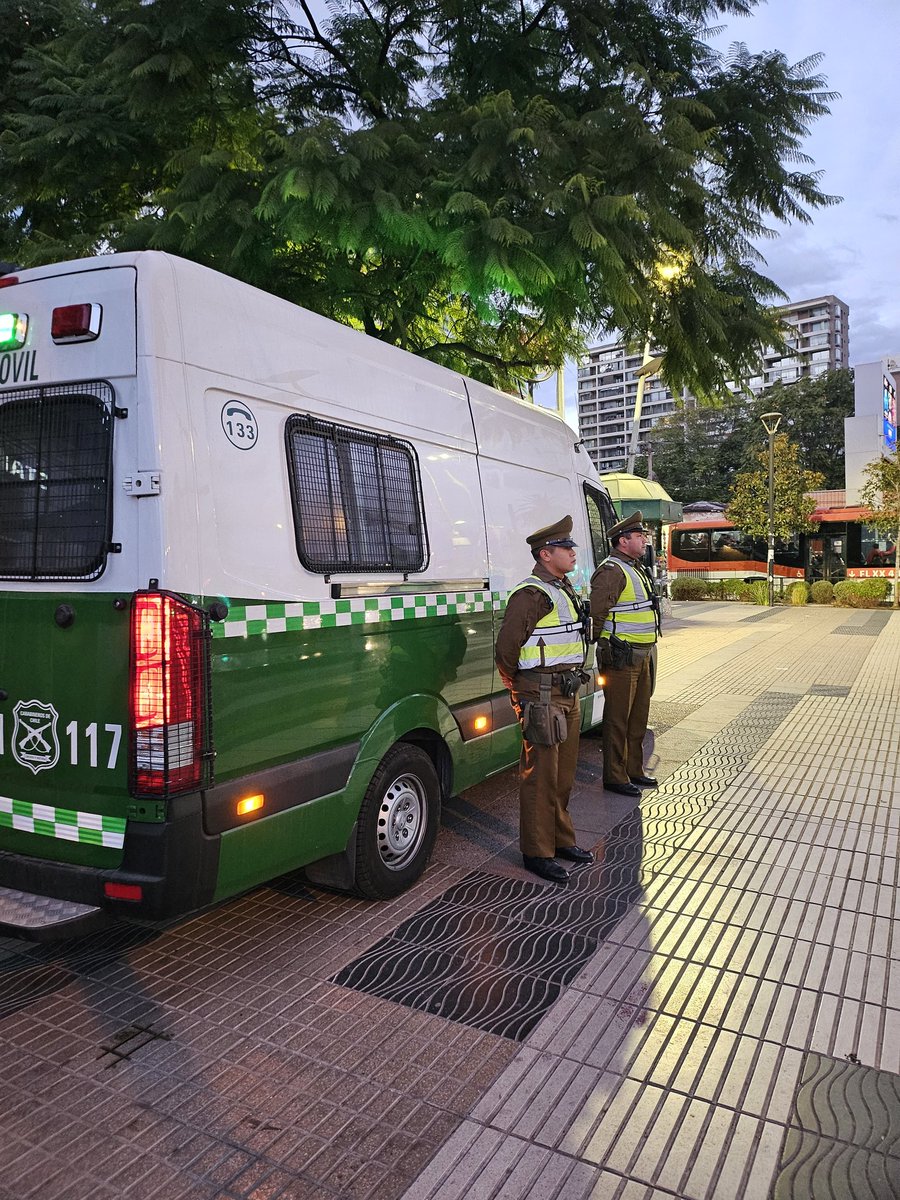
[[900, 1078], [808, 1054], [781, 1150], [774, 1200], [900, 1195]]

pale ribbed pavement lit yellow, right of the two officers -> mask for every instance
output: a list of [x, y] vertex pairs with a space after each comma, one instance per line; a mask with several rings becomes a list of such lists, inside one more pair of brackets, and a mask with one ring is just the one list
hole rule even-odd
[[620, 919], [406, 1200], [900, 1196], [900, 616], [678, 607]]

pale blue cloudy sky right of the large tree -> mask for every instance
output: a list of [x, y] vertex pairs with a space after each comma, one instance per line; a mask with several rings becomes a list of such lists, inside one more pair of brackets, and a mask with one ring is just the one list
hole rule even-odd
[[[833, 294], [850, 305], [851, 365], [900, 355], [900, 2], [770, 0], [722, 24], [718, 49], [745, 42], [792, 64], [822, 54], [817, 73], [840, 92], [804, 149], [823, 172], [822, 191], [842, 199], [761, 242], [764, 274], [792, 301]], [[577, 426], [574, 366], [565, 392]], [[538, 398], [554, 407], [554, 386], [541, 385]]]

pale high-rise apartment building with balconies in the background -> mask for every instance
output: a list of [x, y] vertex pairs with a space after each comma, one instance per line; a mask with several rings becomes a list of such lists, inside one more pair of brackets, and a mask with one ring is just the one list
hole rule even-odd
[[[792, 326], [784, 350], [763, 350], [760, 373], [749, 380], [752, 392], [772, 384], [815, 378], [850, 365], [850, 308], [838, 296], [816, 296], [786, 305], [780, 314]], [[658, 353], [658, 352], [654, 352]], [[578, 367], [578, 431], [598, 470], [622, 470], [628, 456], [642, 355], [624, 342], [589, 350]], [[683, 397], [690, 404], [694, 397]], [[658, 377], [647, 380], [641, 410], [641, 440], [660, 418], [676, 407], [672, 392]]]

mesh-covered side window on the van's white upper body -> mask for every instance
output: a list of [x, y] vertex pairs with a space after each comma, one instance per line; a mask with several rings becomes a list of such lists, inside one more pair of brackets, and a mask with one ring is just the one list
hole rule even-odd
[[308, 571], [422, 571], [419, 462], [406, 442], [308, 415], [286, 439], [296, 552]]

